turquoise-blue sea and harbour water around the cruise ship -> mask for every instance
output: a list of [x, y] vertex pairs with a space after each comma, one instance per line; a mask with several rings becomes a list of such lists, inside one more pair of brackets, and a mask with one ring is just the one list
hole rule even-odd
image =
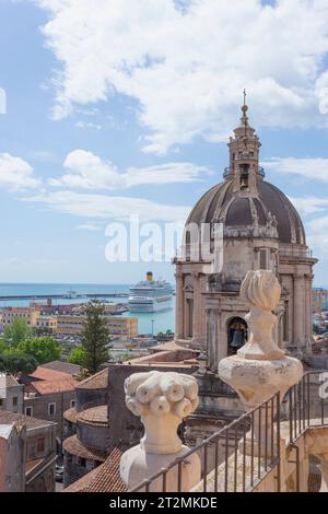
[[[78, 299], [52, 300], [54, 305], [63, 305], [70, 303], [85, 303], [90, 299], [83, 297], [83, 294], [115, 294], [129, 293], [129, 284], [84, 284], [84, 283], [0, 283], [0, 296], [37, 296], [67, 294], [74, 291], [82, 294]], [[125, 297], [106, 297], [108, 302], [126, 303]], [[31, 300], [0, 301], [0, 307], [30, 305]], [[172, 309], [161, 313], [125, 313], [125, 317], [138, 317], [139, 334], [157, 334], [160, 331], [175, 330], [175, 296], [172, 299]], [[153, 326], [153, 327], [152, 327]]]

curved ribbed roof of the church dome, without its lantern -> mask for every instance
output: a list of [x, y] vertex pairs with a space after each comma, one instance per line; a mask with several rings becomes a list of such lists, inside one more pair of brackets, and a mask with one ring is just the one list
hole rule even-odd
[[305, 245], [305, 231], [301, 218], [288, 199], [276, 186], [262, 179], [257, 180], [258, 195], [243, 196], [233, 192], [233, 179], [218, 184], [196, 203], [188, 223], [215, 223], [225, 226], [249, 226], [257, 222], [266, 225], [272, 217], [281, 243]]

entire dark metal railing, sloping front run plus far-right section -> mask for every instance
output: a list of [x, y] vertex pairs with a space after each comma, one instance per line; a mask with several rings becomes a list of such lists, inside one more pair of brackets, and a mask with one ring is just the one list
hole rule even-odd
[[289, 428], [289, 444], [296, 451], [295, 442], [307, 429], [328, 425], [328, 398], [320, 390], [321, 373], [326, 373], [328, 397], [328, 372], [307, 372], [290, 388], [282, 405], [278, 393], [143, 480], [131, 492], [188, 491], [184, 467], [190, 465], [195, 453], [201, 459], [198, 491], [249, 492], [273, 472], [279, 492], [282, 423]]

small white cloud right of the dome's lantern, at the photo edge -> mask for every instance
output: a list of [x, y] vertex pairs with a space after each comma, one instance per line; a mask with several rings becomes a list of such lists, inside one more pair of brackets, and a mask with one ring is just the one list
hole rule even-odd
[[273, 172], [289, 173], [328, 184], [328, 159], [272, 159], [263, 162], [263, 166]]

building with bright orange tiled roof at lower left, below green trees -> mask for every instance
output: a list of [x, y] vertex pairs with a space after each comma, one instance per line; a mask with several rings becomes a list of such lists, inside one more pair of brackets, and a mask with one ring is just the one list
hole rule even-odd
[[56, 423], [57, 453], [63, 440], [63, 412], [74, 406], [78, 384], [71, 372], [38, 366], [31, 375], [23, 375], [24, 413], [27, 417]]

